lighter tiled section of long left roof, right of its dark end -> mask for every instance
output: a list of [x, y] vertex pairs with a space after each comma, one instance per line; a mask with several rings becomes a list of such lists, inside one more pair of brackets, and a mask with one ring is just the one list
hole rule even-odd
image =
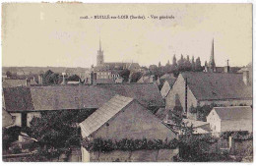
[[34, 110], [98, 108], [115, 93], [88, 85], [32, 87]]

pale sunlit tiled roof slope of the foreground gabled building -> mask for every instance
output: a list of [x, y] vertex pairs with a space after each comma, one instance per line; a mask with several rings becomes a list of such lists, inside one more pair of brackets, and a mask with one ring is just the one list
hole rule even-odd
[[96, 112], [80, 124], [86, 137], [96, 132], [97, 129], [132, 102], [132, 100], [133, 98], [115, 95], [108, 102], [104, 103]]

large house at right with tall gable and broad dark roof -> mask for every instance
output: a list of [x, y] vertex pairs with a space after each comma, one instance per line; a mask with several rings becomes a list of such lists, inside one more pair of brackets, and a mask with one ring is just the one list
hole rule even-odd
[[165, 98], [166, 108], [173, 109], [179, 100], [183, 111], [191, 106], [251, 105], [252, 86], [246, 85], [248, 78], [242, 74], [227, 73], [181, 73]]

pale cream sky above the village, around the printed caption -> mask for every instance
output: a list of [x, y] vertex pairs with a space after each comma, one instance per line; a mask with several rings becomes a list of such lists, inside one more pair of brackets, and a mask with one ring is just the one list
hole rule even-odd
[[[95, 20], [96, 15], [145, 16], [145, 20]], [[155, 16], [174, 19], [153, 20]], [[148, 18], [149, 17], [149, 18]], [[165, 65], [175, 54], [209, 61], [215, 40], [217, 66], [252, 61], [251, 4], [2, 5], [2, 65], [84, 67], [96, 65], [99, 38], [105, 62]]]

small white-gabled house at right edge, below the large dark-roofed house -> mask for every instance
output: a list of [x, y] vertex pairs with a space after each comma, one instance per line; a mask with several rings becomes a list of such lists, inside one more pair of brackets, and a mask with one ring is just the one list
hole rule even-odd
[[215, 107], [207, 116], [207, 122], [212, 133], [252, 132], [252, 108], [250, 106]]

